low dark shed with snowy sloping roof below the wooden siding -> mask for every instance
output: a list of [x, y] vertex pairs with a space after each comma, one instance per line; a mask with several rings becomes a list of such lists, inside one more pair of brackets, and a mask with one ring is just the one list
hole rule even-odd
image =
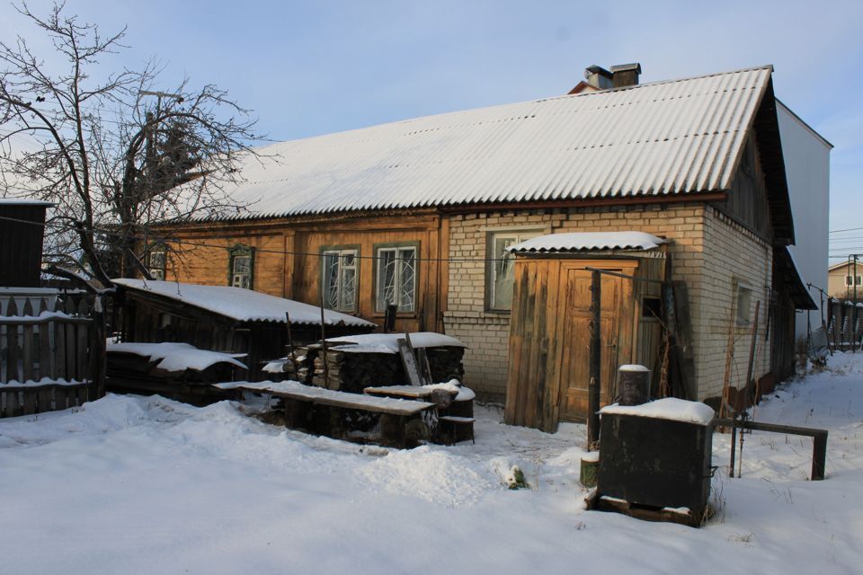
[[[176, 341], [199, 349], [243, 353], [249, 378], [262, 376], [262, 364], [285, 354], [287, 315], [295, 345], [321, 339], [321, 308], [229, 286], [175, 281], [114, 279], [120, 287], [122, 339]], [[327, 337], [369, 333], [375, 323], [324, 311]]]

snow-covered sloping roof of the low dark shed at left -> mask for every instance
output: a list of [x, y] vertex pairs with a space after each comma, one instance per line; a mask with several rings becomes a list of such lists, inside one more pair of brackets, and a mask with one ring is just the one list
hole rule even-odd
[[[200, 286], [176, 281], [150, 281], [145, 279], [112, 279], [124, 288], [137, 289], [157, 296], [195, 305], [215, 314], [233, 318], [239, 322], [285, 323], [285, 313], [290, 314], [290, 323], [321, 324], [321, 308], [283, 297], [270, 296], [251, 289], [229, 286]], [[356, 325], [375, 327], [353, 315], [324, 311], [326, 325]]]

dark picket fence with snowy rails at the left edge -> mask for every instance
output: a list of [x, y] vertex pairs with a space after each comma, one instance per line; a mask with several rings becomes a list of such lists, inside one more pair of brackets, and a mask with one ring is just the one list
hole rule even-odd
[[93, 296], [62, 293], [4, 301], [0, 417], [64, 410], [102, 397], [105, 331], [95, 304]]

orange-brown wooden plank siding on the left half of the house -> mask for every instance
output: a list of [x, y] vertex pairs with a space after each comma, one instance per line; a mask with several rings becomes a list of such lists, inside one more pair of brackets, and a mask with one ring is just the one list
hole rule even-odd
[[242, 222], [178, 229], [169, 243], [165, 279], [228, 285], [228, 250], [236, 244], [254, 248], [254, 289], [311, 305], [321, 301], [321, 258], [325, 248], [359, 251], [357, 311], [354, 315], [383, 324], [375, 309], [375, 260], [378, 247], [415, 245], [417, 287], [414, 312], [398, 314], [396, 331], [442, 331], [449, 267], [449, 222], [427, 215], [329, 217], [307, 220]]

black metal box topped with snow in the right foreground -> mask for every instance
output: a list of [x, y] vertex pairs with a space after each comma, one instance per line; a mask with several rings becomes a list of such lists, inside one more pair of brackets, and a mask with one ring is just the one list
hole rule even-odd
[[603, 413], [597, 500], [647, 512], [689, 508], [687, 522], [698, 525], [710, 495], [713, 429], [712, 422]]

